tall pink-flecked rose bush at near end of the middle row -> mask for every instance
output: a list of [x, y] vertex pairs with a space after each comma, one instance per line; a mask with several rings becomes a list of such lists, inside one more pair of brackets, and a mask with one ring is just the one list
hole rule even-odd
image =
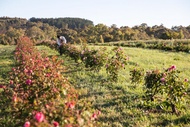
[[118, 81], [118, 73], [120, 69], [124, 69], [128, 61], [128, 56], [124, 54], [121, 47], [115, 47], [114, 55], [108, 58], [106, 71], [111, 81]]

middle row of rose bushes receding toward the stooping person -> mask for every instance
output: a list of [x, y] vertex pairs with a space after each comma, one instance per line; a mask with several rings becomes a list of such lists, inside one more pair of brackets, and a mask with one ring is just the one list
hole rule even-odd
[[[56, 44], [49, 45], [56, 49]], [[106, 68], [106, 72], [111, 81], [117, 82], [119, 70], [124, 69], [128, 62], [128, 56], [121, 47], [115, 47], [108, 52], [105, 47], [99, 49], [88, 48], [87, 46], [77, 47], [71, 44], [64, 44], [62, 53], [71, 57], [75, 62], [82, 63], [86, 68], [94, 71], [100, 71]]]

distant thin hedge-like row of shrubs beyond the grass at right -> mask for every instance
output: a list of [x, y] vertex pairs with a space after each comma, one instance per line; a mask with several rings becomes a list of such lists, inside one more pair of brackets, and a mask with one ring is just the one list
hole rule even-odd
[[123, 46], [123, 47], [141, 47], [148, 49], [159, 49], [165, 51], [190, 52], [190, 40], [147, 40], [147, 41], [126, 41], [98, 43], [96, 45], [104, 46]]

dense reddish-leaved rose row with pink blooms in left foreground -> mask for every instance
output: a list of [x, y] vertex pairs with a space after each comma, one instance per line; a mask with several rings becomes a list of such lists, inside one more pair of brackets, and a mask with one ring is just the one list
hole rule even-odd
[[0, 126], [97, 126], [100, 111], [84, 108], [78, 93], [61, 75], [62, 61], [39, 52], [29, 38], [15, 50], [10, 83], [0, 85]]

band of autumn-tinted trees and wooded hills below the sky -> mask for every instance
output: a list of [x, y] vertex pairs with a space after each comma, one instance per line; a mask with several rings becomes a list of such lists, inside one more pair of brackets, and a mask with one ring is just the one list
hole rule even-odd
[[16, 44], [19, 37], [28, 36], [34, 42], [53, 41], [56, 35], [63, 35], [70, 43], [104, 43], [128, 40], [190, 39], [189, 26], [174, 26], [171, 29], [161, 25], [120, 28], [113, 24], [94, 25], [81, 18], [10, 18], [0, 17], [0, 44]]

